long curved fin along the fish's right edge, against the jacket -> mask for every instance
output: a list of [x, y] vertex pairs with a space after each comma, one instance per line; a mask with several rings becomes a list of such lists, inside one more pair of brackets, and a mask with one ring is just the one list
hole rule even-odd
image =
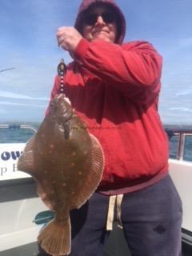
[[86, 200], [89, 199], [92, 194], [94, 194], [94, 191], [97, 189], [102, 180], [102, 171], [104, 169], [105, 162], [104, 153], [98, 139], [94, 137], [93, 134], [90, 134], [90, 138], [92, 142], [90, 174], [86, 178], [86, 181], [82, 186], [82, 190], [78, 196], [74, 198], [75, 201], [72, 203], [73, 208], [81, 207]]

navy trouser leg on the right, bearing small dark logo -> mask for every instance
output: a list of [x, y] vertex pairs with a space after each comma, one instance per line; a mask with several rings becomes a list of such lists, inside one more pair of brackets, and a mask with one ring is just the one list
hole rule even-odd
[[182, 202], [169, 175], [126, 194], [122, 224], [132, 256], [182, 255]]

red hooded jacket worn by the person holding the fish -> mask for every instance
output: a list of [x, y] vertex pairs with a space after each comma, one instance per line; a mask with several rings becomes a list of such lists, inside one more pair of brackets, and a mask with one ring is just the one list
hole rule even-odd
[[[93, 2], [83, 1], [82, 11]], [[122, 44], [125, 18], [114, 1], [121, 22], [118, 42], [85, 38], [74, 62], [67, 66], [64, 93], [91, 134], [101, 142], [105, 169], [98, 191], [122, 194], [158, 182], [167, 174], [168, 142], [158, 115], [162, 57], [148, 42]], [[60, 92], [56, 76], [51, 100]], [[49, 111], [49, 109], [48, 109]]]

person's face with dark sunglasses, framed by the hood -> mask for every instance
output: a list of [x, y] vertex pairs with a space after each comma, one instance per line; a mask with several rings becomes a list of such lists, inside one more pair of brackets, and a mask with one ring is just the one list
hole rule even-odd
[[106, 42], [115, 42], [117, 24], [114, 14], [107, 6], [94, 6], [85, 14], [82, 35], [88, 41], [102, 39]]

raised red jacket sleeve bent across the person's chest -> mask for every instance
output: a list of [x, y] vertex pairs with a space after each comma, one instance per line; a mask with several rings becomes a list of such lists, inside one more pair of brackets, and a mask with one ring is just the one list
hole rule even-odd
[[[85, 38], [74, 53], [91, 74], [106, 82], [128, 86], [155, 86], [162, 71], [162, 57], [149, 42], [129, 42], [123, 46]], [[123, 86], [126, 85], [126, 86]]]

